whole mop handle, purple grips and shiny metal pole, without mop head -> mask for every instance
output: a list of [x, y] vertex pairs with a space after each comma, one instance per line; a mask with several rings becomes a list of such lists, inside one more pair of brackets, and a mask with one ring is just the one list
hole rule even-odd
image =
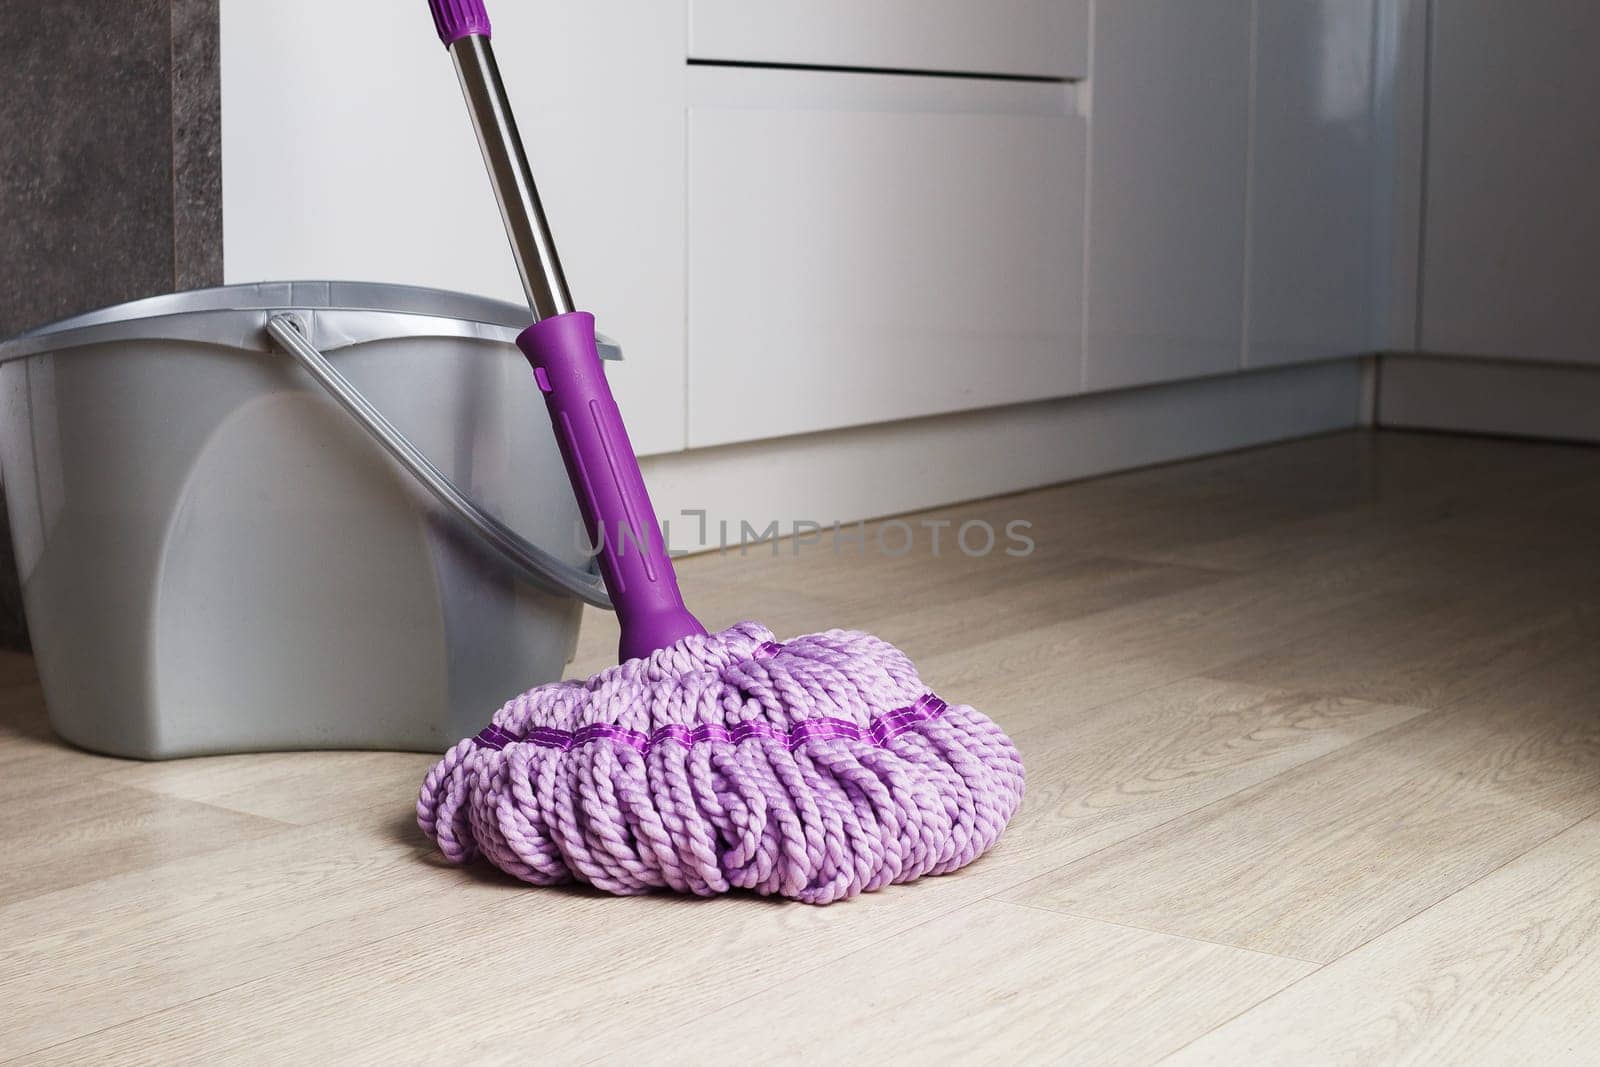
[[534, 323], [517, 338], [544, 392], [550, 426], [598, 552], [600, 576], [622, 625], [619, 654], [645, 657], [704, 633], [678, 592], [656, 509], [627, 440], [595, 347], [595, 323], [573, 310], [522, 136], [506, 99], [482, 0], [429, 0], [440, 40], [456, 61], [483, 162]]

